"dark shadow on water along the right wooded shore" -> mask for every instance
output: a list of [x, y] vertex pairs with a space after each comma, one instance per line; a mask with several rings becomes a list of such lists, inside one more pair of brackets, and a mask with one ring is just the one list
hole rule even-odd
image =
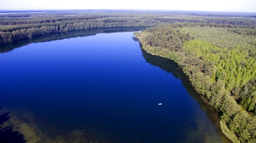
[[[137, 38], [133, 37], [134, 41], [138, 41]], [[184, 86], [184, 88], [187, 90], [189, 96], [191, 96], [193, 99], [199, 103], [199, 106], [201, 109], [207, 114], [208, 118], [212, 122], [212, 124], [216, 125], [218, 135], [222, 138], [222, 141], [224, 142], [232, 142], [230, 141], [221, 131], [220, 128], [220, 120], [218, 118], [218, 113], [216, 110], [213, 109], [212, 106], [208, 105], [207, 100], [201, 96], [199, 92], [194, 88], [194, 86], [191, 84], [191, 82], [188, 79], [188, 76], [185, 75], [185, 73], [182, 71], [182, 68], [177, 65], [173, 60], [159, 57], [156, 55], [152, 55], [150, 53], [147, 53], [147, 51], [142, 49], [142, 45], [140, 44], [142, 56], [146, 60], [147, 63], [150, 63], [152, 66], [156, 66], [161, 68], [163, 71], [166, 71], [167, 73], [171, 73], [174, 75], [174, 77], [181, 80], [181, 84]], [[188, 123], [189, 126], [191, 126], [193, 129], [197, 129], [197, 123]]]

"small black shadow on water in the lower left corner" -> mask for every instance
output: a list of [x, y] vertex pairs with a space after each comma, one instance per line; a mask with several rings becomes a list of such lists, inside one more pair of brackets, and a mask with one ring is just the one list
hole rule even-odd
[[[0, 110], [2, 107], [0, 107]], [[27, 140], [24, 140], [24, 136], [18, 132], [13, 131], [13, 127], [10, 125], [3, 127], [3, 123], [7, 122], [10, 119], [10, 112], [0, 115], [0, 142], [5, 143], [24, 143]]]

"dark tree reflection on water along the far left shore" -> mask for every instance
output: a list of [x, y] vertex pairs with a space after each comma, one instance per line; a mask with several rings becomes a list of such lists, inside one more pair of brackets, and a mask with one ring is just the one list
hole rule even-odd
[[88, 28], [73, 31], [57, 32], [50, 34], [43, 34], [32, 38], [26, 38], [20, 41], [11, 42], [9, 44], [0, 44], [0, 53], [7, 53], [16, 48], [26, 46], [32, 43], [49, 42], [56, 40], [63, 40], [65, 38], [87, 37], [99, 33], [117, 33], [117, 32], [133, 32], [142, 31], [147, 27], [107, 27], [107, 28]]

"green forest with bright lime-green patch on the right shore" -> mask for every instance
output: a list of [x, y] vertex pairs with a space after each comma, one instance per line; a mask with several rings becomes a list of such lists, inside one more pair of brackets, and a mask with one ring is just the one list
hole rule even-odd
[[[220, 114], [233, 142], [256, 142], [255, 29], [172, 24], [141, 34], [143, 49], [174, 60]], [[236, 139], [236, 137], [238, 140]]]

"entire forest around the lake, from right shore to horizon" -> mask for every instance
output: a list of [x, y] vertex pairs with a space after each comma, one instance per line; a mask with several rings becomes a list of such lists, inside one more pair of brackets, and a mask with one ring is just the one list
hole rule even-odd
[[[256, 142], [256, 13], [0, 11], [0, 44], [12, 45], [48, 33], [72, 37], [72, 31], [78, 29], [86, 35], [93, 28], [134, 26], [150, 27], [134, 33], [142, 48], [174, 60], [182, 68], [218, 111], [222, 132], [230, 140]], [[0, 49], [2, 53], [12, 50], [9, 44]]]

